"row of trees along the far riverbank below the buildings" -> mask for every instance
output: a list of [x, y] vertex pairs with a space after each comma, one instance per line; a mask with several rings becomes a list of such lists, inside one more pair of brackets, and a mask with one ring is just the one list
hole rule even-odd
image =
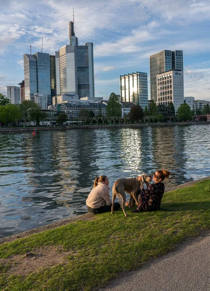
[[[204, 105], [202, 111], [197, 110], [196, 114], [210, 113], [209, 104]], [[86, 123], [116, 123], [116, 122], [163, 122], [163, 121], [188, 121], [192, 120], [194, 111], [190, 110], [190, 106], [183, 103], [178, 108], [176, 116], [173, 103], [168, 105], [158, 105], [152, 101], [150, 104], [150, 110], [147, 106], [143, 111], [140, 105], [132, 106], [128, 114], [124, 114], [122, 118], [122, 108], [118, 101], [118, 97], [115, 93], [112, 93], [109, 97], [109, 102], [106, 107], [106, 116], [101, 112], [99, 105], [98, 114], [95, 115], [93, 111], [82, 109], [79, 113], [78, 121]], [[34, 102], [25, 100], [21, 104], [11, 104], [9, 98], [0, 94], [0, 122], [3, 124], [18, 123], [23, 121], [34, 122], [37, 126], [48, 118], [48, 113], [43, 112], [41, 108]], [[66, 113], [61, 113], [56, 122], [59, 125], [63, 125], [68, 120]]]

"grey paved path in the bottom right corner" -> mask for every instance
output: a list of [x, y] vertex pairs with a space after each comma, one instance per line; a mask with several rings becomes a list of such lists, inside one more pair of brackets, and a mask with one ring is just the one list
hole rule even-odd
[[100, 291], [210, 291], [210, 232], [138, 271], [112, 280]]

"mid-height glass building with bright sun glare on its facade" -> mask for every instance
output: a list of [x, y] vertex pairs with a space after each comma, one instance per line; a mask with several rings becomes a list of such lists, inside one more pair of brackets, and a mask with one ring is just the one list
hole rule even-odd
[[120, 100], [148, 108], [147, 73], [136, 72], [120, 76]]

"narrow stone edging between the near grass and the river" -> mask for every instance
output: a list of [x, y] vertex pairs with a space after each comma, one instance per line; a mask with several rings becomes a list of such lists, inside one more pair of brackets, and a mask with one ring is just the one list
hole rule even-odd
[[[197, 179], [197, 180], [194, 180], [194, 181], [191, 181], [191, 182], [188, 182], [188, 183], [184, 183], [184, 184], [181, 184], [181, 185], [178, 185], [178, 186], [174, 186], [174, 187], [166, 189], [165, 193], [171, 192], [171, 191], [175, 191], [175, 190], [178, 190], [178, 189], [181, 189], [181, 188], [191, 187], [197, 182], [201, 182], [201, 181], [209, 180], [209, 179], [210, 179], [210, 176], [209, 177], [205, 177], [205, 178], [201, 178], [201, 179]], [[18, 233], [18, 234], [14, 234], [14, 235], [9, 236], [9, 237], [2, 238], [2, 239], [0, 239], [0, 244], [2, 244], [4, 242], [13, 242], [16, 239], [28, 237], [28, 236], [30, 236], [32, 234], [43, 232], [45, 230], [53, 229], [53, 228], [56, 228], [56, 227], [59, 227], [59, 226], [64, 226], [64, 225], [67, 225], [69, 223], [74, 223], [74, 222], [76, 222], [78, 220], [88, 221], [88, 220], [92, 220], [94, 218], [95, 218], [95, 216], [88, 212], [88, 213], [85, 213], [85, 214], [82, 214], [82, 215], [79, 215], [79, 216], [71, 217], [71, 218], [68, 218], [68, 219], [65, 219], [65, 220], [62, 220], [62, 221], [58, 221], [58, 222], [52, 223], [52, 224], [49, 224], [49, 225], [46, 225], [46, 226], [40, 226], [38, 228], [34, 228], [34, 229], [31, 229], [31, 230], [28, 230], [28, 231], [24, 231], [24, 232], [21, 232], [21, 233]]]

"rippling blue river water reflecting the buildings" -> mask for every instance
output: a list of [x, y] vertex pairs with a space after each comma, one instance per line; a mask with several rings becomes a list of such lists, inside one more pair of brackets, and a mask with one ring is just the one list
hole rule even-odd
[[0, 238], [87, 212], [98, 175], [162, 167], [166, 187], [210, 176], [210, 125], [0, 133]]

